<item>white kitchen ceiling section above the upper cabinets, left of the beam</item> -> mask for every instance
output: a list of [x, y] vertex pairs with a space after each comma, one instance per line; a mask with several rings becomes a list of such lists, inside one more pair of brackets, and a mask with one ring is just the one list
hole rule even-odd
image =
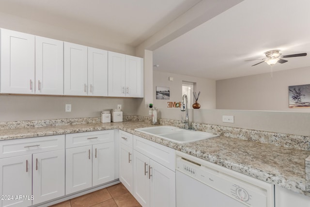
[[0, 12], [136, 47], [199, 1], [0, 0]]

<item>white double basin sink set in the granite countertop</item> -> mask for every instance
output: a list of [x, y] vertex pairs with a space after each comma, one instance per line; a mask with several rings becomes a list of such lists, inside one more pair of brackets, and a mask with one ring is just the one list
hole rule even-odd
[[175, 143], [190, 143], [219, 136], [209, 132], [191, 131], [171, 126], [143, 127], [136, 128], [135, 130]]

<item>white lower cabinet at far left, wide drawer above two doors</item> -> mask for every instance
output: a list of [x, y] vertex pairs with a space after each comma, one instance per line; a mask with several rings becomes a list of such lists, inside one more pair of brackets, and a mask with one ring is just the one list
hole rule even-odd
[[64, 135], [0, 142], [1, 207], [27, 207], [64, 195]]

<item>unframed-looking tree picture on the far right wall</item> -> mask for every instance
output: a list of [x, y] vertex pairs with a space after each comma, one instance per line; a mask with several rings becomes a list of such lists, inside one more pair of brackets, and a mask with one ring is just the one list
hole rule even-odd
[[289, 108], [310, 108], [310, 84], [289, 86]]

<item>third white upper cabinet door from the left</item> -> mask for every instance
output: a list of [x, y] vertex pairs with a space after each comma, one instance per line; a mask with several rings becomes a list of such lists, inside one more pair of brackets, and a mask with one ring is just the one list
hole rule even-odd
[[87, 47], [64, 42], [64, 95], [87, 95]]

